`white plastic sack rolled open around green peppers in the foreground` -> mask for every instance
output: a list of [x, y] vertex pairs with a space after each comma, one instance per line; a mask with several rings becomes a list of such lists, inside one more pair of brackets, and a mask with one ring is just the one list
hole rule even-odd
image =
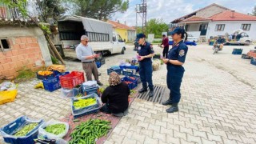
[[[48, 132], [46, 132], [45, 128], [46, 126], [50, 126], [50, 125], [55, 125], [55, 124], [64, 124], [66, 126], [65, 131], [62, 132], [62, 134], [50, 134]], [[69, 124], [66, 122], [58, 122], [58, 121], [54, 121], [53, 119], [51, 119], [49, 122], [44, 122], [38, 129], [38, 137], [39, 138], [46, 138], [46, 139], [56, 139], [58, 140], [59, 138], [63, 138], [67, 132], [69, 131]]]

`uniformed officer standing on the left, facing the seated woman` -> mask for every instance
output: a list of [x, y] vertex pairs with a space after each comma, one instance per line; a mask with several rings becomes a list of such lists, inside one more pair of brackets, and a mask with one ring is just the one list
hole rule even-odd
[[139, 75], [142, 80], [142, 89], [139, 93], [147, 91], [147, 83], [150, 88], [149, 97], [154, 96], [154, 86], [152, 82], [153, 66], [151, 58], [154, 56], [153, 46], [145, 40], [145, 34], [137, 34], [136, 41], [138, 42], [138, 61], [139, 61]]

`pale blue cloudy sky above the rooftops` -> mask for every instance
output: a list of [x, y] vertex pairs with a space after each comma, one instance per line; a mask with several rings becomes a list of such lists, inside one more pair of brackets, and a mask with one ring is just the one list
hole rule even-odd
[[[136, 26], [135, 6], [140, 3], [141, 0], [130, 0], [129, 9], [123, 14], [114, 14], [111, 19], [126, 22], [128, 26]], [[251, 13], [256, 6], [256, 0], [147, 0], [147, 21], [151, 18], [162, 18], [164, 22], [170, 23], [212, 3], [244, 14]], [[141, 25], [142, 18], [138, 16], [138, 26]]]

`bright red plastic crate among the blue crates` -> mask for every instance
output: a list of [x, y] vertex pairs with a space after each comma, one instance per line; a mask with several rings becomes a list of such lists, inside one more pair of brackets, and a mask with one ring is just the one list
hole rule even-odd
[[83, 72], [72, 71], [70, 74], [66, 74], [59, 77], [62, 88], [73, 89], [82, 82], [85, 82]]

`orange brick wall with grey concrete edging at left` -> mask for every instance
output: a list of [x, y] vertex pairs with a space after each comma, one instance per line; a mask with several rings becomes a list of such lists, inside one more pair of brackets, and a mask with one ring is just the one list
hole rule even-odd
[[52, 65], [46, 39], [38, 27], [0, 26], [0, 38], [6, 38], [10, 46], [0, 51], [0, 75], [14, 78], [24, 67], [37, 70]]

